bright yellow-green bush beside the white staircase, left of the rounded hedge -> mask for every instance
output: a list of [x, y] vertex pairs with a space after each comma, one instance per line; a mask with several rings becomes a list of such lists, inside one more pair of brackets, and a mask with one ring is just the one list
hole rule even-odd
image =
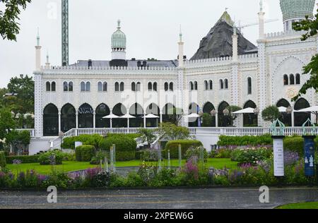
[[75, 142], [81, 142], [83, 145], [94, 145], [95, 148], [98, 150], [98, 145], [100, 140], [102, 140], [102, 136], [95, 134], [95, 135], [78, 135], [69, 138], [64, 138], [61, 147], [64, 149], [71, 149], [75, 150]]

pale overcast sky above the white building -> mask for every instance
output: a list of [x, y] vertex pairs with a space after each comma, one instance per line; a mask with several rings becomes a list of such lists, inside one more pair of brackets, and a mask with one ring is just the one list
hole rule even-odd
[[[110, 37], [122, 20], [127, 37], [127, 59], [176, 59], [179, 25], [184, 51], [190, 58], [199, 42], [225, 8], [236, 23], [256, 23], [259, 0], [69, 0], [69, 62], [79, 59], [109, 60]], [[265, 0], [266, 18], [279, 19], [265, 25], [266, 32], [283, 30], [278, 0]], [[40, 28], [42, 64], [49, 52], [52, 65], [61, 65], [61, 1], [33, 0], [20, 16], [17, 42], [0, 40], [0, 88], [20, 73], [35, 68], [37, 27]], [[256, 44], [258, 26], [243, 30]]]

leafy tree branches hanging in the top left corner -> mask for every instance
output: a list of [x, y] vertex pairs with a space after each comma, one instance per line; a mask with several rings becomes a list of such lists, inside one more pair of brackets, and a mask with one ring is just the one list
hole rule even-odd
[[20, 8], [23, 10], [31, 0], [2, 0], [0, 1], [0, 35], [5, 40], [16, 41], [20, 28], [17, 20], [20, 20]]

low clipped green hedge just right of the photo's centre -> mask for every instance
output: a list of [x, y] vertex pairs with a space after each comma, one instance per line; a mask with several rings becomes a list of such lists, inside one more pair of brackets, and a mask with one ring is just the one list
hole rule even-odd
[[165, 145], [165, 150], [162, 152], [163, 156], [167, 159], [167, 150], [170, 150], [170, 158], [178, 159], [179, 145], [181, 145], [181, 154], [184, 157], [189, 147], [197, 147], [202, 145], [202, 143], [199, 140], [172, 140]]

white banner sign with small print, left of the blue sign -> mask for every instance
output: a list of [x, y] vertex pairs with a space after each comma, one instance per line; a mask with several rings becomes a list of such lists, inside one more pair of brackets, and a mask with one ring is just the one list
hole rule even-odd
[[283, 138], [273, 138], [274, 176], [285, 176]]

